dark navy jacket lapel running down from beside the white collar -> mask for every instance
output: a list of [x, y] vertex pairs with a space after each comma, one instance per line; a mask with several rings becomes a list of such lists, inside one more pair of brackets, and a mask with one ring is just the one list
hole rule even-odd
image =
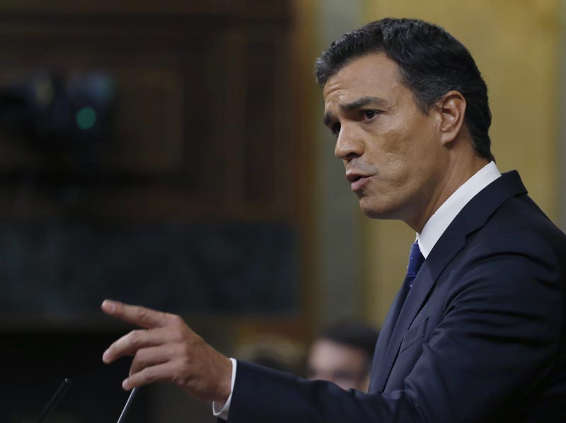
[[503, 202], [521, 194], [526, 194], [526, 189], [519, 174], [505, 173], [473, 197], [446, 228], [424, 260], [406, 299], [403, 288], [395, 297], [376, 345], [370, 392], [385, 388], [405, 332], [426, 303], [441, 272], [466, 245], [468, 234], [484, 226]]

